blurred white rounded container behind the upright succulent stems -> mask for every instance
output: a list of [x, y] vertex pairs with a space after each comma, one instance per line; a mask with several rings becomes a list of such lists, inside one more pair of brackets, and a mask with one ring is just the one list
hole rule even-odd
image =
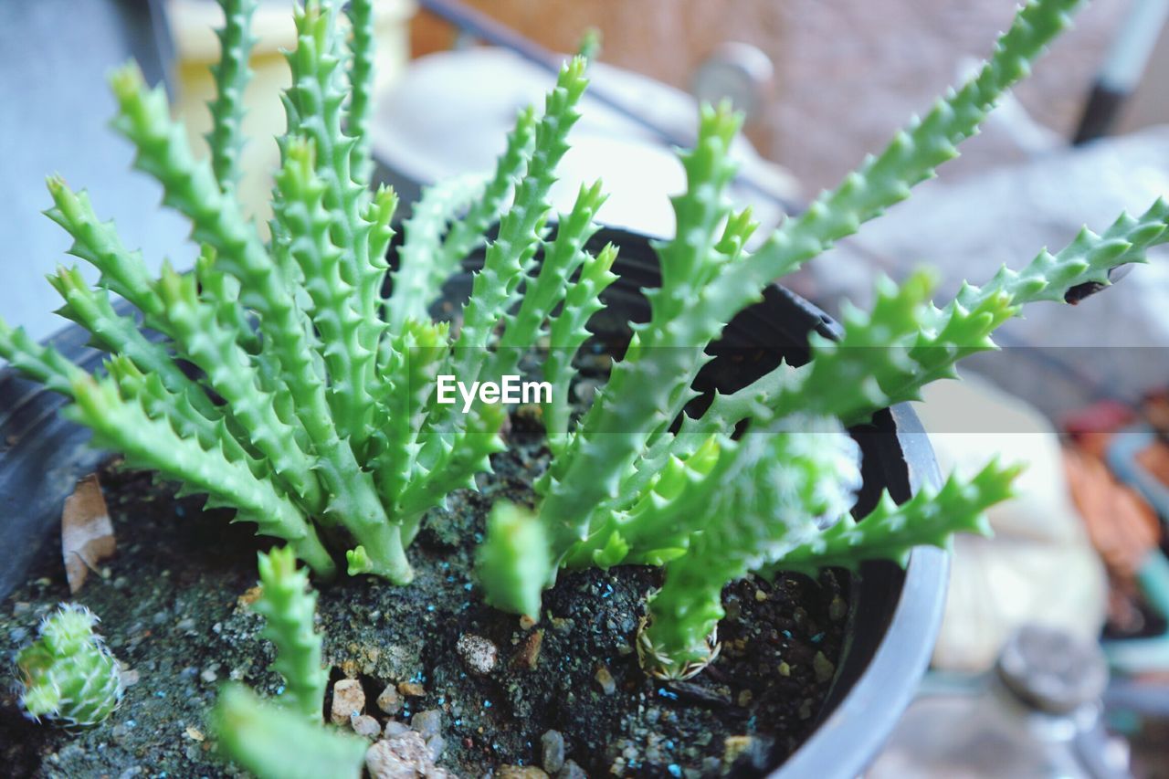
[[[589, 80], [672, 136], [693, 137], [698, 103], [686, 92], [603, 62], [589, 66]], [[530, 104], [542, 111], [544, 95], [554, 83], [554, 74], [500, 48], [420, 57], [383, 96], [375, 113], [374, 157], [406, 201], [416, 197], [419, 186], [490, 172], [516, 113]], [[602, 179], [609, 199], [597, 221], [651, 236], [672, 235], [669, 195], [685, 189], [685, 172], [673, 150], [630, 117], [590, 99], [587, 91], [580, 111], [570, 149], [556, 171], [553, 206], [568, 211], [582, 184]], [[735, 139], [732, 154], [768, 192], [797, 198], [790, 174], [763, 160], [746, 138]], [[732, 198], [739, 207], [753, 207], [765, 228], [758, 230], [760, 237], [780, 219], [773, 198], [735, 186]]]

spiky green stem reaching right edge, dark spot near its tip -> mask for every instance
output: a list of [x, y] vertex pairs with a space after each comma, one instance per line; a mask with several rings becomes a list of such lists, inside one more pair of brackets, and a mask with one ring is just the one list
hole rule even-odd
[[717, 395], [700, 420], [683, 432], [708, 435], [733, 427], [760, 408], [783, 414], [796, 409], [865, 422], [873, 412], [906, 400], [938, 379], [954, 378], [954, 365], [994, 349], [991, 333], [1023, 306], [1063, 302], [1082, 284], [1108, 284], [1108, 271], [1144, 262], [1144, 253], [1169, 241], [1169, 206], [1154, 202], [1139, 218], [1121, 214], [1098, 235], [1087, 227], [1051, 254], [1040, 251], [1026, 267], [1002, 268], [981, 287], [964, 284], [941, 309], [929, 304], [933, 283], [915, 275], [898, 287], [878, 284], [873, 310], [844, 310], [844, 337], [812, 338], [812, 354], [800, 368], [781, 366], [729, 395]]

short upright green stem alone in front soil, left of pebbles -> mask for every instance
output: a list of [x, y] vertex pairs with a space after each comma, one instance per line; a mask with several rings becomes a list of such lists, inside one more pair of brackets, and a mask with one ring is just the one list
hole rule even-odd
[[251, 609], [264, 616], [262, 635], [276, 644], [271, 668], [284, 677], [278, 701], [311, 722], [319, 722], [328, 674], [320, 666], [320, 634], [313, 629], [317, 593], [309, 590], [309, 573], [297, 570], [288, 546], [260, 554], [262, 593]]

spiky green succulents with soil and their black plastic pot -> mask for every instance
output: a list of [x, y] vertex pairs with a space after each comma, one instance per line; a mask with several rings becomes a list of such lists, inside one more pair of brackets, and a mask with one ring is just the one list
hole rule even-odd
[[[138, 683], [110, 736], [105, 724], [79, 746], [26, 736], [6, 747], [9, 764], [101, 772], [137, 759], [194, 773], [222, 752], [272, 777], [362, 765], [539, 775], [534, 763], [567, 775], [697, 775], [774, 767], [833, 705], [849, 723], [891, 725], [924, 666], [940, 592], [902, 598], [887, 565], [848, 572], [914, 557], [916, 584], [939, 588], [938, 557], [912, 550], [983, 531], [1016, 473], [991, 463], [968, 481], [932, 478], [928, 455], [893, 435], [918, 432], [897, 404], [991, 349], [1024, 304], [1064, 301], [1141, 261], [1165, 240], [1169, 208], [1085, 229], [940, 308], [928, 273], [881, 282], [872, 311], [848, 310], [839, 329], [770, 282], [954, 157], [1075, 5], [1024, 7], [970, 82], [754, 251], [750, 214], [725, 193], [738, 119], [704, 108], [682, 153], [676, 237], [652, 246], [653, 263], [644, 241], [622, 240], [634, 258], [620, 266], [617, 246], [595, 241], [600, 185], [552, 227], [547, 195], [586, 88], [582, 57], [561, 69], [542, 115], [520, 112], [493, 174], [431, 187], [396, 247], [396, 199], [367, 186], [368, 0], [345, 12], [348, 47], [336, 4], [296, 12], [269, 241], [234, 193], [254, 4], [223, 1], [209, 163], [191, 154], [161, 91], [132, 66], [118, 70], [116, 127], [191, 220], [199, 261], [152, 277], [89, 198], [53, 178], [49, 215], [102, 277], [97, 289], [74, 269], [51, 281], [104, 365], [91, 374], [2, 324], [0, 356], [67, 395], [62, 415], [99, 444], [181, 489], [103, 471], [134, 540], [120, 579], [111, 570], [82, 600], [106, 618], [110, 649]], [[388, 251], [396, 270], [383, 297]], [[469, 288], [461, 309], [444, 288], [452, 277]], [[32, 448], [5, 456], [6, 498], [55, 502], [60, 487], [51, 497], [13, 489], [7, 471], [43, 475], [36, 448], [53, 441], [29, 443], [43, 416], [13, 419], [25, 427], [14, 448]], [[54, 449], [76, 435], [56, 430]], [[69, 453], [65, 468], [87, 457]], [[279, 539], [260, 558], [261, 588], [247, 590], [255, 546], [244, 536], [174, 516], [193, 510], [191, 494]], [[19, 611], [54, 595], [51, 578], [34, 579]], [[37, 662], [21, 664], [13, 698], [44, 716], [43, 694], [28, 705], [33, 684], [54, 677], [44, 663], [74, 656], [54, 649], [50, 625], [22, 655]], [[890, 636], [915, 644], [898, 655]], [[902, 674], [886, 699], [874, 670]], [[274, 701], [240, 685], [217, 694], [221, 675]], [[886, 710], [858, 717], [858, 704]], [[855, 773], [883, 725], [851, 726], [851, 752], [829, 728], [809, 742], [817, 752], [788, 765]]]

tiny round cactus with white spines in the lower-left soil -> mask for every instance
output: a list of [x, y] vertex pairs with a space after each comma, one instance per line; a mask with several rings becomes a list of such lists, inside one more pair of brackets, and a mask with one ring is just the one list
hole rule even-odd
[[96, 725], [122, 702], [118, 661], [94, 632], [97, 616], [62, 604], [41, 622], [35, 642], [16, 656], [30, 717], [64, 725]]

